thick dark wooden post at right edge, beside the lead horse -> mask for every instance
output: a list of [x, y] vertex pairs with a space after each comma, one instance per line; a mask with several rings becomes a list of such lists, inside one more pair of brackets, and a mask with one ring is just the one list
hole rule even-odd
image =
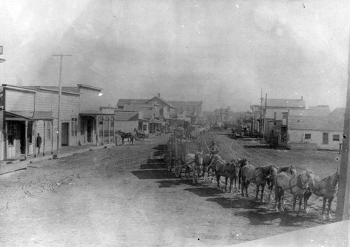
[[[350, 48], [350, 39], [349, 39]], [[346, 106], [344, 114], [344, 132], [342, 143], [342, 156], [340, 159], [339, 170], [339, 190], [337, 194], [337, 209], [335, 211], [335, 220], [348, 220], [349, 217], [349, 177], [350, 177], [350, 50], [348, 59], [348, 89], [346, 95]]]

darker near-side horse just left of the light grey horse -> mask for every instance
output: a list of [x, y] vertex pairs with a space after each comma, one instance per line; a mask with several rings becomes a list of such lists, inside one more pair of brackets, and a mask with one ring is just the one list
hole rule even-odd
[[275, 176], [276, 167], [270, 164], [266, 167], [255, 167], [252, 164], [247, 164], [241, 168], [241, 196], [244, 197], [244, 189], [246, 190], [246, 197], [248, 197], [249, 183], [256, 184], [256, 196], [258, 199], [259, 188], [261, 187], [261, 202], [264, 202], [264, 188], [268, 176]]

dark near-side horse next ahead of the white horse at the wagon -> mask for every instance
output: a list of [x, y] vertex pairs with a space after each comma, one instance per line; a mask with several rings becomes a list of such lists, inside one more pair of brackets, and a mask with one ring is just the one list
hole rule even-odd
[[228, 187], [228, 178], [230, 178], [230, 192], [232, 191], [232, 184], [235, 180], [235, 188], [237, 189], [236, 181], [237, 181], [237, 165], [234, 160], [227, 163], [225, 160], [221, 159], [220, 156], [216, 155], [211, 162], [211, 168], [215, 172], [217, 187], [220, 188], [220, 177], [225, 177], [225, 191], [227, 191]]

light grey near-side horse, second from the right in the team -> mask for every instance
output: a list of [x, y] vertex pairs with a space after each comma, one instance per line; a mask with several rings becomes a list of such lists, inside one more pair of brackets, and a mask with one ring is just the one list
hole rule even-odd
[[[274, 207], [276, 211], [279, 211], [279, 209], [283, 211], [281, 206], [281, 197], [284, 194], [284, 191], [286, 191], [293, 195], [293, 211], [295, 211], [297, 198], [300, 199], [299, 211], [297, 212], [297, 214], [299, 214], [304, 192], [307, 190], [307, 188], [309, 188], [309, 186], [312, 188], [315, 185], [314, 171], [306, 169], [299, 175], [290, 175], [286, 172], [281, 172], [274, 177], [274, 185]], [[278, 207], [277, 202], [279, 203]]]

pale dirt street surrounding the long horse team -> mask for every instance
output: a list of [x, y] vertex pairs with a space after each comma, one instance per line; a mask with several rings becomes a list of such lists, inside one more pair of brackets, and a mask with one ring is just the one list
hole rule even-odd
[[[290, 197], [286, 211], [276, 212], [274, 202], [255, 202], [253, 187], [247, 199], [209, 179], [193, 185], [175, 178], [152, 158], [168, 139], [31, 163], [1, 175], [0, 246], [228, 246], [334, 222], [320, 216], [322, 201], [314, 196], [311, 213], [297, 216]], [[337, 152], [242, 148], [258, 142], [225, 132], [202, 136], [204, 152], [211, 140], [225, 160], [293, 164], [321, 177], [339, 167]]]

